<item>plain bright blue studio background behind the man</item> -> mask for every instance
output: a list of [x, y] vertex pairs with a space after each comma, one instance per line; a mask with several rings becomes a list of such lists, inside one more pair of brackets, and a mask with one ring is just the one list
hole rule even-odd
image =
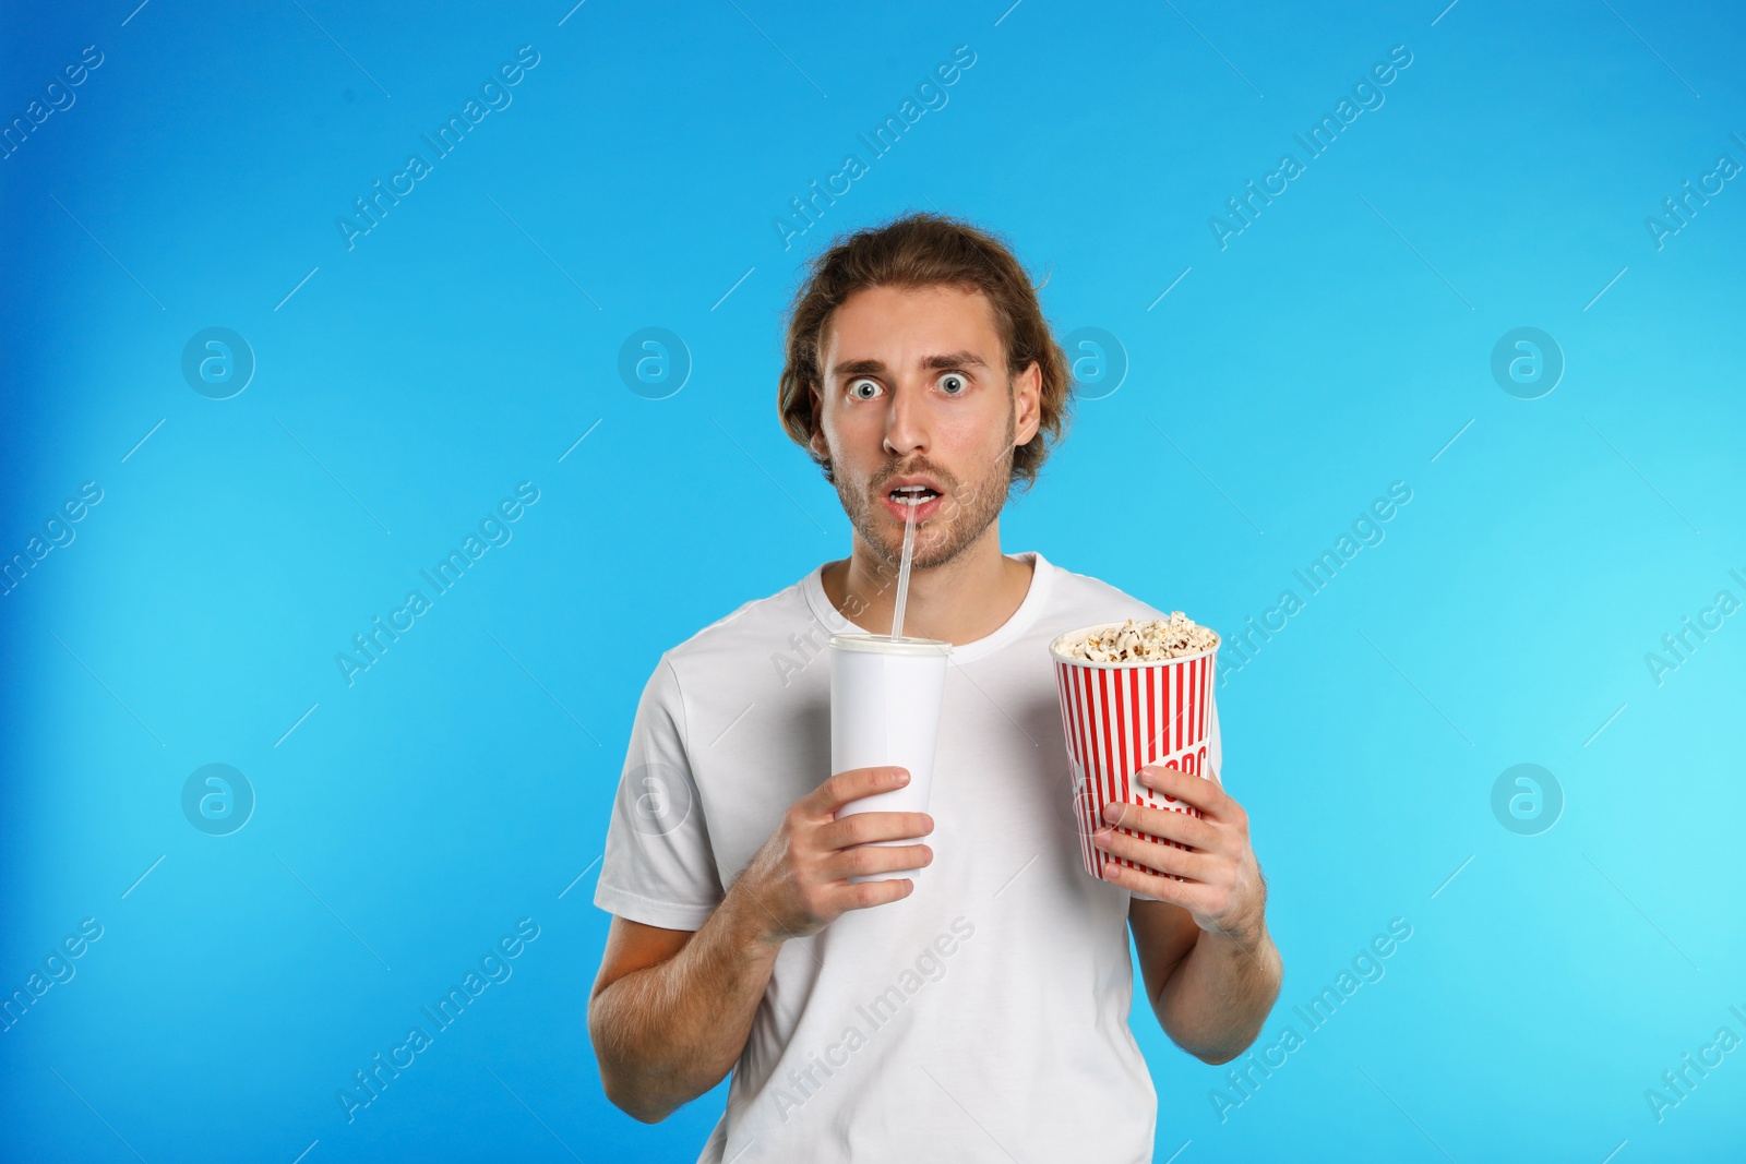
[[[0, 553], [103, 489], [0, 599], [0, 988], [103, 925], [0, 1035], [5, 1159], [695, 1157], [723, 1089], [658, 1127], [601, 1092], [590, 866], [660, 651], [847, 550], [773, 415], [803, 260], [934, 208], [1130, 363], [1009, 551], [1234, 637], [1413, 490], [1220, 691], [1287, 965], [1257, 1045], [1413, 937], [1224, 1122], [1229, 1068], [1137, 1014], [1158, 1159], [1739, 1157], [1746, 1052], [1645, 1099], [1746, 1037], [1746, 614], [1645, 663], [1746, 599], [1746, 180], [1645, 227], [1746, 162], [1737, 9], [567, 9], [0, 17], [7, 120], [103, 52], [0, 161]], [[524, 44], [513, 105], [347, 251], [353, 197]], [[957, 45], [950, 103], [871, 159]], [[1220, 250], [1208, 216], [1392, 45], [1386, 103]], [[847, 152], [870, 173], [784, 250]], [[258, 361], [230, 400], [180, 372], [208, 326]], [[667, 400], [618, 377], [643, 326], [690, 351]], [[1517, 326], [1566, 359], [1540, 400], [1489, 372]], [[347, 688], [333, 654], [524, 480], [513, 541]], [[258, 798], [232, 836], [182, 815], [208, 763]], [[1491, 813], [1517, 763], [1566, 798], [1538, 836]], [[513, 977], [347, 1126], [335, 1091], [520, 918]]]

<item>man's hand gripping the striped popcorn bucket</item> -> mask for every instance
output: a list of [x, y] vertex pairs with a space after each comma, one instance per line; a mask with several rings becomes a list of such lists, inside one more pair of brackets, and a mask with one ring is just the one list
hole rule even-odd
[[[1142, 785], [1198, 808], [1201, 815], [1196, 818], [1186, 811], [1110, 803], [1103, 808], [1107, 824], [1093, 832], [1093, 841], [1109, 853], [1158, 871], [1145, 873], [1105, 860], [1105, 881], [1182, 906], [1200, 928], [1248, 946], [1259, 941], [1266, 927], [1266, 890], [1255, 850], [1248, 845], [1248, 813], [1215, 777], [1210, 768], [1206, 777], [1175, 766], [1142, 768], [1137, 777]], [[1149, 836], [1124, 836], [1112, 825]], [[1165, 845], [1165, 839], [1186, 845], [1187, 850]]]

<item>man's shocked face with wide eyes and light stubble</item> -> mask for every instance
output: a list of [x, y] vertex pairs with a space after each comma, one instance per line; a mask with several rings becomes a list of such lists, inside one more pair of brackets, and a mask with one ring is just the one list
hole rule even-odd
[[915, 565], [950, 562], [1000, 515], [1013, 448], [1037, 435], [1037, 366], [1009, 377], [993, 307], [955, 286], [856, 291], [824, 339], [814, 448], [843, 511], [894, 562], [913, 506]]

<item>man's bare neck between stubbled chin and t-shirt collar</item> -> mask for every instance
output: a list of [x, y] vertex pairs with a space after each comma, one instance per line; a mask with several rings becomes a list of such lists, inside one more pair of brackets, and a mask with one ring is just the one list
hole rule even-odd
[[[1030, 564], [1000, 553], [1000, 522], [995, 520], [950, 562], [910, 567], [903, 633], [910, 639], [945, 639], [953, 646], [983, 639], [1023, 604], [1030, 574]], [[870, 633], [890, 633], [897, 607], [897, 564], [887, 562], [859, 534], [847, 558], [824, 565], [821, 581], [843, 618]]]

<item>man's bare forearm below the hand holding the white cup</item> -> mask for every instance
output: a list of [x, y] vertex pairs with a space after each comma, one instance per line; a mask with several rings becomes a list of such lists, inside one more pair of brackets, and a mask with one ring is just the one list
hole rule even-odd
[[780, 942], [730, 890], [684, 948], [625, 974], [588, 1005], [606, 1096], [653, 1124], [726, 1077], [746, 1047]]

